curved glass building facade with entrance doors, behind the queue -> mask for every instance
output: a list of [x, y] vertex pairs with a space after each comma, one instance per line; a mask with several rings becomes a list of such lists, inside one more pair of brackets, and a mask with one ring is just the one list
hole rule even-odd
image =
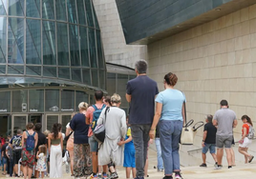
[[0, 133], [28, 122], [63, 125], [106, 92], [92, 0], [0, 0]]

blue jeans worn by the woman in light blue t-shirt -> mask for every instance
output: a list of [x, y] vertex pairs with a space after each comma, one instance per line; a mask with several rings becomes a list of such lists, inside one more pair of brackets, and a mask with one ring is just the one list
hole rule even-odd
[[181, 170], [179, 141], [182, 124], [183, 122], [178, 120], [160, 120], [160, 148], [165, 175], [172, 175], [173, 171]]

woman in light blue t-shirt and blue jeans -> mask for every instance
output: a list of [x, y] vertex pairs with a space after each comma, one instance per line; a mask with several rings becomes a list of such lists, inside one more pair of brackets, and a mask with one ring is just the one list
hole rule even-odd
[[[164, 166], [163, 179], [181, 179], [179, 140], [184, 119], [185, 96], [174, 89], [178, 78], [169, 72], [164, 76], [164, 89], [156, 98], [157, 108], [149, 135], [153, 139], [159, 123], [160, 148]], [[160, 122], [159, 122], [160, 120]]]

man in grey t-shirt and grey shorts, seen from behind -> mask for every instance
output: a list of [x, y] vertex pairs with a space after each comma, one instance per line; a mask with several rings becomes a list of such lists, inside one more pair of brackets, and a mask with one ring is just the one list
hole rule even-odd
[[218, 109], [213, 117], [213, 125], [218, 126], [216, 133], [216, 147], [218, 166], [216, 169], [222, 169], [222, 162], [224, 156], [224, 148], [226, 152], [226, 159], [228, 169], [232, 168], [231, 145], [233, 139], [233, 128], [237, 126], [236, 113], [228, 109], [226, 100], [222, 100], [221, 109]]

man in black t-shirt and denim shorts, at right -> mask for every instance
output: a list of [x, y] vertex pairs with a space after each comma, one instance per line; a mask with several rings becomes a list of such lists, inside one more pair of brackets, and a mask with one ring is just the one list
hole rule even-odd
[[215, 154], [215, 148], [216, 148], [216, 132], [217, 128], [212, 125], [212, 115], [206, 115], [205, 116], [205, 122], [203, 129], [203, 142], [202, 142], [202, 158], [203, 158], [203, 164], [200, 165], [200, 167], [206, 168], [206, 153], [208, 150], [210, 150], [210, 153], [212, 155], [212, 158], [215, 162], [215, 165], [218, 165], [217, 158]]

